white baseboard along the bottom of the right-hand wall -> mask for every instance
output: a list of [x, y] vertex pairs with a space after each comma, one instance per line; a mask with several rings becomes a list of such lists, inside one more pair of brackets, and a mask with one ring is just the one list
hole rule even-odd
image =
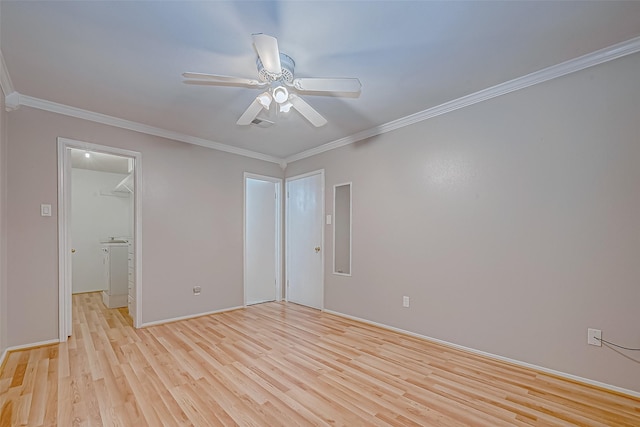
[[322, 310], [322, 311], [327, 313], [327, 314], [333, 314], [334, 316], [339, 316], [339, 317], [343, 317], [345, 319], [355, 320], [356, 322], [362, 322], [362, 323], [365, 323], [367, 325], [377, 326], [379, 328], [386, 329], [386, 330], [389, 330], [389, 331], [398, 332], [400, 334], [409, 335], [411, 337], [420, 338], [420, 339], [423, 339], [423, 340], [426, 340], [426, 341], [434, 342], [436, 344], [444, 345], [444, 346], [447, 346], [447, 347], [450, 347], [450, 348], [454, 348], [456, 350], [466, 351], [468, 353], [477, 354], [479, 356], [484, 356], [484, 357], [487, 357], [489, 359], [494, 359], [494, 360], [499, 360], [501, 362], [511, 363], [513, 365], [521, 366], [521, 367], [528, 368], [528, 369], [534, 369], [536, 371], [544, 372], [546, 374], [555, 375], [557, 377], [565, 378], [565, 379], [568, 379], [568, 380], [571, 380], [571, 381], [576, 381], [576, 382], [579, 382], [579, 383], [587, 384], [587, 385], [594, 386], [594, 387], [603, 388], [605, 390], [613, 391], [613, 392], [616, 392], [616, 393], [626, 394], [628, 396], [640, 398], [640, 392], [638, 392], [638, 391], [629, 390], [629, 389], [626, 389], [626, 388], [614, 386], [614, 385], [607, 384], [607, 383], [602, 383], [600, 381], [591, 380], [589, 378], [579, 377], [577, 375], [568, 374], [566, 372], [556, 371], [554, 369], [545, 368], [543, 366], [534, 365], [532, 363], [522, 362], [522, 361], [516, 360], [516, 359], [510, 359], [508, 357], [499, 356], [497, 354], [487, 353], [486, 351], [476, 350], [474, 348], [465, 347], [463, 345], [454, 344], [454, 343], [451, 343], [451, 342], [448, 342], [448, 341], [443, 341], [443, 340], [440, 340], [440, 339], [437, 339], [437, 338], [432, 338], [432, 337], [429, 337], [429, 336], [426, 336], [426, 335], [417, 334], [415, 332], [406, 331], [406, 330], [400, 329], [400, 328], [395, 328], [393, 326], [385, 325], [383, 323], [373, 322], [371, 320], [362, 319], [360, 317], [350, 316], [348, 314], [340, 313], [339, 311], [333, 311], [333, 310]]

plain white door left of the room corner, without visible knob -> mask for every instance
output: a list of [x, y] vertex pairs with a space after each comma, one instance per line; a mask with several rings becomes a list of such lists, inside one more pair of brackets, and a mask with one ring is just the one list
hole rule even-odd
[[245, 304], [274, 301], [279, 271], [281, 180], [245, 179]]

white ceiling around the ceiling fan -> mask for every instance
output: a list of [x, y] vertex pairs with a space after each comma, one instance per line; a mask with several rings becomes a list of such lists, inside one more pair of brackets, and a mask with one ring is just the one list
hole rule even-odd
[[[21, 95], [284, 159], [637, 37], [640, 2], [3, 0], [0, 19]], [[303, 96], [320, 128], [242, 127], [258, 90], [184, 84], [256, 78], [260, 32], [297, 77], [358, 77], [360, 96]]]

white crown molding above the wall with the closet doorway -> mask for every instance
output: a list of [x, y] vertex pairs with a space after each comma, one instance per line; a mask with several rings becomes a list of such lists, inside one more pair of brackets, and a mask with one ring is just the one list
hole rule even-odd
[[[16, 92], [17, 93], [17, 92]], [[186, 142], [188, 144], [199, 145], [201, 147], [212, 148], [214, 150], [224, 151], [226, 153], [237, 154], [239, 156], [250, 157], [253, 159], [264, 160], [266, 162], [281, 164], [282, 159], [269, 156], [255, 151], [245, 150], [243, 148], [233, 147], [231, 145], [222, 144], [215, 141], [209, 141], [204, 138], [185, 135], [183, 133], [169, 131], [166, 129], [149, 126], [130, 120], [120, 119], [106, 114], [94, 113], [92, 111], [83, 110], [81, 108], [70, 107], [56, 102], [46, 101], [44, 99], [34, 98], [27, 95], [19, 95], [20, 105], [26, 107], [37, 108], [39, 110], [50, 111], [65, 116], [75, 117], [78, 119], [88, 120], [121, 129], [132, 130], [135, 132], [145, 133], [147, 135], [159, 136], [161, 138], [172, 139], [175, 141]]]

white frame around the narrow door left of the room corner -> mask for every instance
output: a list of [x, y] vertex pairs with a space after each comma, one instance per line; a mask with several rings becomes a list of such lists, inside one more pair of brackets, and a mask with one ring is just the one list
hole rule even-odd
[[273, 176], [258, 175], [245, 172], [242, 181], [243, 207], [242, 207], [242, 302], [243, 307], [247, 307], [247, 180], [255, 179], [259, 181], [272, 182], [276, 188], [276, 301], [282, 301], [282, 178]]

